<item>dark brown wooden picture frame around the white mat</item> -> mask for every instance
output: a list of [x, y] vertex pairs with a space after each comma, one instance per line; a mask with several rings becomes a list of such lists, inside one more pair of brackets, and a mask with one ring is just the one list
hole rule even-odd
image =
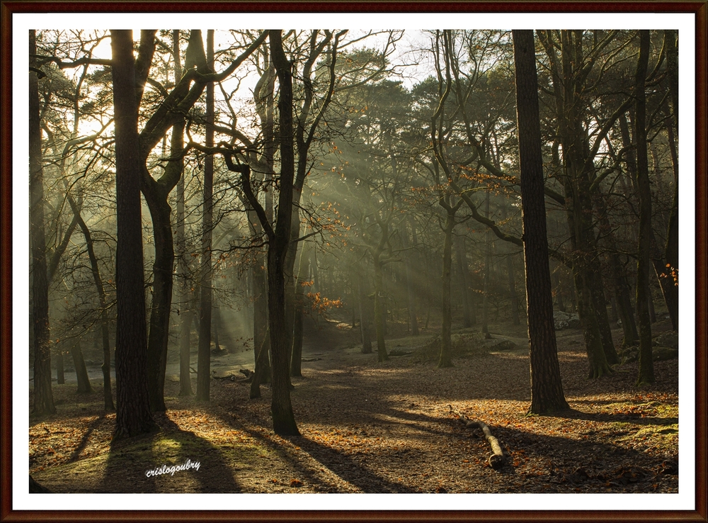
[[[207, 13], [214, 11], [249, 13], [690, 13], [695, 17], [696, 57], [696, 106], [695, 106], [695, 211], [696, 211], [696, 317], [695, 317], [695, 500], [693, 510], [653, 511], [627, 510], [430, 510], [430, 511], [288, 511], [288, 510], [234, 510], [234, 511], [51, 511], [13, 510], [12, 484], [12, 30], [13, 15], [17, 13], [67, 13], [90, 11], [96, 13]], [[1, 103], [0, 103], [0, 234], [1, 234], [1, 522], [39, 521], [490, 521], [490, 522], [708, 522], [706, 482], [707, 461], [707, 49], [708, 49], [708, 3], [707, 1], [677, 2], [515, 2], [515, 1], [0, 1], [1, 23]], [[345, 23], [341, 25], [346, 25]], [[19, 180], [19, 179], [18, 179]], [[14, 181], [14, 183], [18, 183]], [[26, 488], [26, 485], [23, 486]], [[43, 503], [51, 498], [42, 497]], [[550, 502], [550, 498], [549, 498]]]

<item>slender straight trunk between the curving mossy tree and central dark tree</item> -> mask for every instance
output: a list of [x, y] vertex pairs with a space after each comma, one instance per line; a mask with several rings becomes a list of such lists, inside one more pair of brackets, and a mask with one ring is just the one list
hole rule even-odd
[[[207, 30], [207, 67], [214, 70], [214, 30]], [[214, 147], [214, 82], [207, 84], [206, 146]], [[200, 268], [199, 348], [197, 354], [197, 396], [209, 401], [212, 329], [212, 210], [214, 201], [214, 157], [204, 160], [204, 199], [202, 208], [202, 263]]]

